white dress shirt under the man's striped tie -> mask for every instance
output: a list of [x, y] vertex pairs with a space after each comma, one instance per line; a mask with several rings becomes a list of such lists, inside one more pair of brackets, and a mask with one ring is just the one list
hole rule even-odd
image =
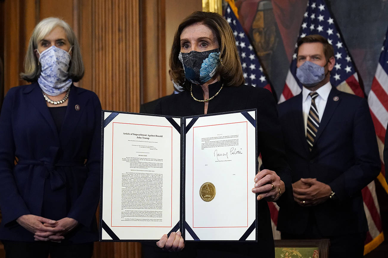
[[[315, 105], [318, 109], [319, 122], [322, 121], [323, 112], [325, 111], [327, 98], [329, 97], [329, 93], [331, 91], [331, 83], [327, 82], [322, 87], [319, 87], [315, 92], [319, 94], [318, 97], [315, 98]], [[306, 127], [307, 127], [307, 117], [308, 113], [310, 113], [311, 107], [311, 97], [309, 89], [303, 87], [302, 88], [302, 111], [303, 111], [303, 121], [305, 123], [305, 135], [306, 135]]]

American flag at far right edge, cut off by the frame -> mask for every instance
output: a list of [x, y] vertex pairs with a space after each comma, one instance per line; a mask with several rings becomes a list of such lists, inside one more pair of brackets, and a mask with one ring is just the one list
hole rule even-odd
[[378, 180], [388, 193], [388, 185], [385, 180], [385, 167], [383, 150], [385, 143], [386, 126], [388, 123], [388, 30], [381, 48], [380, 59], [377, 64], [376, 74], [372, 81], [371, 91], [368, 95], [369, 110], [371, 111], [374, 129], [381, 157], [381, 173]]

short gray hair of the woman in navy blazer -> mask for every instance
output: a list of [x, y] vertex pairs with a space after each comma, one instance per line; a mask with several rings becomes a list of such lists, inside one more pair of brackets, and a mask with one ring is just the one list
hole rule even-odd
[[32, 32], [29, 39], [26, 58], [24, 59], [24, 73], [20, 73], [22, 79], [28, 82], [35, 82], [40, 76], [41, 67], [38, 64], [38, 58], [35, 55], [35, 49], [38, 48], [38, 42], [49, 34], [55, 27], [62, 27], [66, 33], [71, 47], [71, 62], [69, 67], [69, 77], [73, 82], [82, 79], [85, 72], [83, 67], [80, 45], [74, 34], [73, 29], [67, 22], [57, 17], [49, 17], [40, 21]]

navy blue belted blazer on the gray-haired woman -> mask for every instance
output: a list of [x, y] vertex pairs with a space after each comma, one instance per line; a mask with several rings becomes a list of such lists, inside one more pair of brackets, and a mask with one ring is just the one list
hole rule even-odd
[[44, 200], [55, 194], [49, 219], [79, 222], [65, 239], [97, 241], [100, 146], [101, 104], [94, 92], [71, 86], [58, 133], [38, 83], [11, 88], [0, 114], [0, 239], [33, 241], [16, 219], [42, 215]]

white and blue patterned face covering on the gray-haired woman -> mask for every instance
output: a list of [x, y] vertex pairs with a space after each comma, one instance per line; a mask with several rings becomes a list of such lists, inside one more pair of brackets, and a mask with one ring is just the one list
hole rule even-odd
[[70, 54], [56, 46], [50, 46], [39, 54], [42, 70], [38, 78], [38, 84], [42, 91], [50, 96], [58, 96], [67, 91], [72, 83], [68, 72], [71, 60]]

